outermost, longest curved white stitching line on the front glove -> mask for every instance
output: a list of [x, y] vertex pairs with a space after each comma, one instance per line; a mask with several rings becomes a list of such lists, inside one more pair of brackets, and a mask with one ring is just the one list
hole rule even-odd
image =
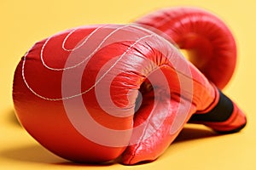
[[[96, 85], [102, 80], [102, 78], [105, 77], [105, 76], [108, 74], [108, 72], [111, 71], [111, 69], [113, 69], [113, 67], [119, 62], [119, 60], [122, 59], [122, 58], [125, 56], [125, 54], [127, 54], [128, 51], [131, 50], [131, 48], [132, 48], [133, 46], [135, 46], [138, 42], [142, 41], [143, 39], [145, 39], [145, 38], [147, 38], [147, 37], [153, 37], [153, 36], [154, 36], [154, 34], [150, 34], [150, 35], [148, 35], [148, 36], [144, 36], [144, 37], [141, 37], [141, 38], [137, 39], [137, 41], [134, 42], [134, 43], [132, 43], [131, 46], [125, 50], [125, 52], [119, 57], [119, 59], [117, 59], [117, 60], [113, 63], [113, 65], [108, 69], [108, 71], [106, 71], [106, 72], [102, 75], [102, 77], [100, 77], [100, 78], [95, 82], [94, 85], [92, 85], [90, 88], [88, 88], [87, 90], [85, 90], [84, 92], [82, 92], [82, 93], [80, 93], [80, 94], [74, 94], [74, 95], [72, 95], [72, 96], [68, 96], [68, 97], [64, 97], [64, 98], [51, 99], [51, 98], [46, 98], [46, 97], [44, 97], [44, 96], [42, 96], [42, 95], [36, 93], [36, 92], [29, 86], [29, 84], [26, 82], [26, 77], [25, 77], [26, 55], [29, 54], [30, 50], [31, 50], [33, 47], [32, 47], [32, 48], [25, 54], [25, 56], [24, 56], [24, 60], [23, 60], [23, 63], [22, 63], [22, 78], [23, 78], [23, 81], [24, 81], [25, 84], [26, 84], [26, 87], [32, 92], [32, 94], [35, 94], [36, 96], [38, 96], [38, 97], [41, 98], [41, 99], [50, 100], [50, 101], [58, 101], [58, 100], [64, 100], [64, 99], [72, 99], [72, 98], [78, 97], [78, 96], [80, 96], [80, 95], [86, 94], [86, 93], [88, 93], [92, 88], [95, 88]], [[109, 35], [108, 35], [108, 37], [109, 37]], [[105, 40], [105, 39], [107, 39], [107, 38], [105, 37], [104, 40]], [[106, 41], [106, 40], [105, 40], [105, 41]]]

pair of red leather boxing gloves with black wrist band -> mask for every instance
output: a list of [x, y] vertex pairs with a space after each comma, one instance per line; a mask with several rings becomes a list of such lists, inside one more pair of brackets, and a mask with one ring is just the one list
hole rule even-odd
[[135, 24], [82, 26], [37, 42], [15, 71], [15, 111], [34, 139], [68, 160], [154, 161], [187, 122], [219, 133], [246, 125], [221, 92], [235, 66], [236, 42], [218, 17], [161, 9]]

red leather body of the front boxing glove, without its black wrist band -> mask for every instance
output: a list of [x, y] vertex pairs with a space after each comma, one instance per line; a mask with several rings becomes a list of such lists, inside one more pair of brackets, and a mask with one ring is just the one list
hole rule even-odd
[[84, 26], [37, 42], [15, 71], [23, 127], [79, 162], [153, 161], [218, 89], [170, 42], [137, 26]]

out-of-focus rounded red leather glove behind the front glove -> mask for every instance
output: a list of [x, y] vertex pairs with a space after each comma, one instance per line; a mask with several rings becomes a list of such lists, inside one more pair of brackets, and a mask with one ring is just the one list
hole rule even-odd
[[223, 89], [236, 68], [236, 42], [217, 16], [201, 8], [163, 8], [136, 20], [181, 49], [218, 88]]

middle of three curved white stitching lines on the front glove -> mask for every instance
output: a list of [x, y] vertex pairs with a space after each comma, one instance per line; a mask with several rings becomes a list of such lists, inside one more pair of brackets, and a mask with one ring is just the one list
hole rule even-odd
[[[96, 47], [96, 49], [95, 49], [89, 56], [85, 57], [85, 59], [83, 59], [83, 60], [82, 60], [81, 62], [79, 62], [78, 64], [73, 65], [73, 66], [69, 66], [69, 67], [65, 67], [65, 68], [53, 68], [53, 67], [50, 67], [49, 65], [46, 65], [46, 64], [45, 64], [45, 62], [44, 62], [44, 48], [45, 48], [47, 42], [49, 42], [49, 39], [51, 38], [51, 37], [49, 37], [49, 38], [44, 42], [44, 45], [43, 45], [43, 47], [42, 47], [42, 49], [41, 49], [41, 54], [40, 54], [40, 55], [41, 55], [41, 61], [42, 61], [43, 65], [44, 65], [46, 68], [48, 68], [49, 70], [52, 70], [52, 71], [65, 71], [65, 70], [68, 70], [68, 69], [73, 69], [73, 68], [75, 68], [75, 67], [78, 67], [79, 65], [83, 64], [84, 61], [86, 61], [87, 59], [90, 59], [90, 57], [91, 57], [92, 55], [94, 55], [94, 54], [96, 53], [96, 51], [97, 51], [99, 48], [102, 47], [102, 44], [107, 41], [108, 37], [111, 37], [115, 32], [117, 32], [117, 31], [119, 31], [120, 29], [125, 28], [125, 27], [128, 27], [128, 26], [127, 26], [127, 25], [121, 26], [121, 27], [119, 27], [119, 28], [113, 30], [111, 33], [108, 34], [107, 37], [105, 37], [105, 38], [102, 40], [102, 42]], [[102, 28], [102, 27], [100, 27], [100, 28]], [[99, 29], [97, 29], [97, 30], [99, 30]], [[96, 31], [91, 32], [90, 35], [88, 36], [88, 38], [85, 38], [83, 44], [84, 44], [85, 41], [87, 41], [87, 40], [89, 39], [89, 37], [91, 37], [95, 32], [96, 32]], [[67, 36], [68, 36], [68, 35], [67, 35]], [[66, 39], [66, 38], [65, 38], [65, 39]], [[82, 47], [82, 46], [80, 46], [80, 47]], [[79, 47], [79, 48], [80, 48], [80, 47]], [[65, 50], [65, 49], [64, 49], [64, 50]]]

